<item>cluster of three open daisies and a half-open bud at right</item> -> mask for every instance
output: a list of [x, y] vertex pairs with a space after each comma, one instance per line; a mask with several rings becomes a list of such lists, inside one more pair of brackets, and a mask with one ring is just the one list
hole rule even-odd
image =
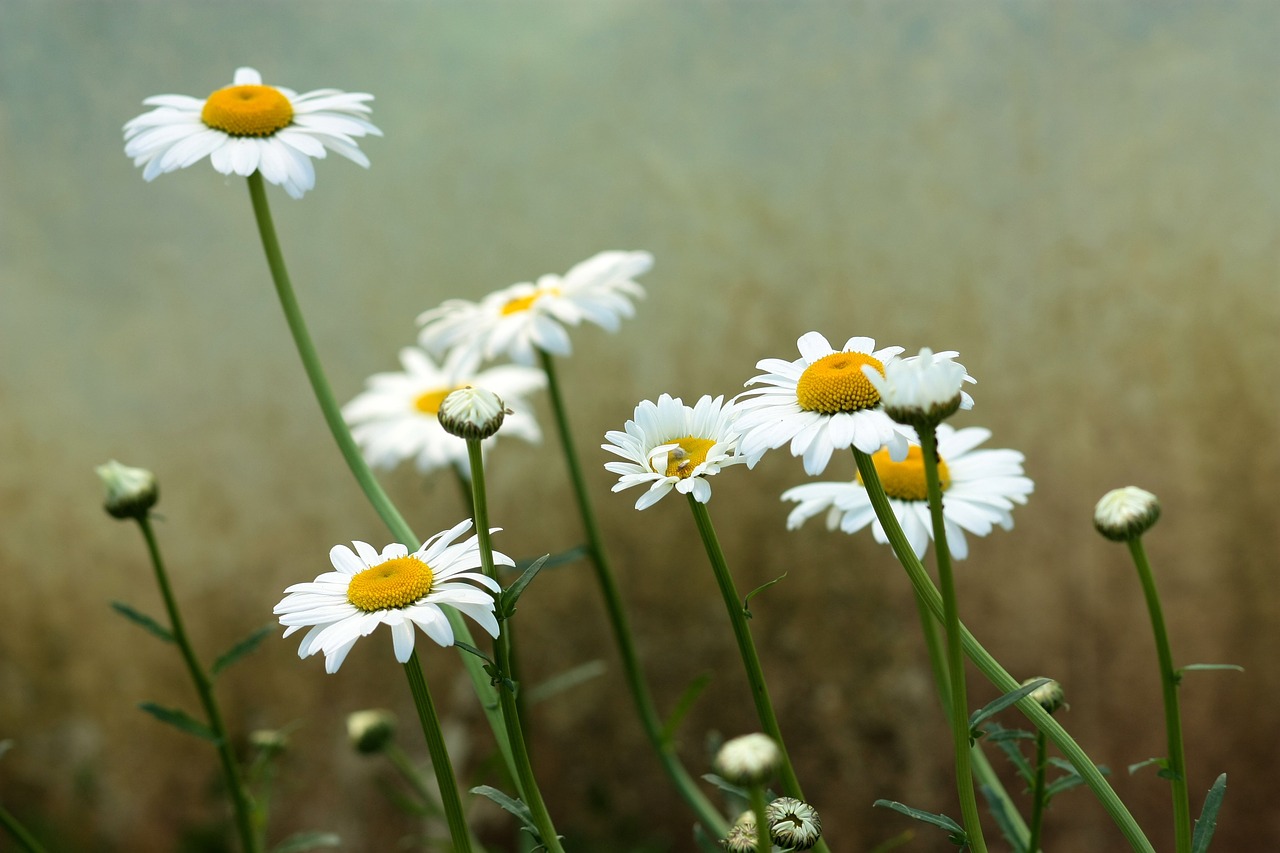
[[[805, 471], [822, 474], [837, 451], [856, 448], [870, 456], [890, 506], [918, 557], [933, 526], [929, 517], [923, 455], [913, 424], [937, 429], [943, 526], [957, 558], [968, 556], [965, 533], [987, 535], [1012, 526], [1012, 508], [1025, 503], [1034, 485], [1023, 473], [1023, 455], [1012, 450], [979, 450], [991, 432], [955, 429], [940, 423], [960, 409], [972, 409], [964, 386], [975, 382], [954, 359], [954, 351], [901, 357], [902, 347], [877, 348], [873, 338], [849, 338], [836, 350], [822, 334], [809, 332], [796, 342], [794, 361], [764, 359], [764, 373], [731, 401], [703, 397], [695, 406], [663, 394], [643, 401], [625, 430], [605, 434], [602, 447], [622, 462], [605, 469], [618, 474], [613, 491], [649, 488], [636, 501], [644, 510], [672, 491], [710, 500], [708, 478], [731, 465], [755, 464], [769, 450], [788, 446], [803, 457]], [[759, 387], [755, 387], [759, 386]], [[813, 482], [787, 489], [783, 501], [797, 506], [787, 516], [796, 529], [826, 515], [827, 526], [856, 533], [868, 525], [887, 543], [860, 476]]]

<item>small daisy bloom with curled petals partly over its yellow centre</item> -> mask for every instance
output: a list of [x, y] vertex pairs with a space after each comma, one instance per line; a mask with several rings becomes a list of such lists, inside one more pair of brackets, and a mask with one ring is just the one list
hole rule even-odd
[[604, 437], [611, 443], [600, 444], [627, 460], [604, 464], [605, 470], [621, 474], [612, 491], [648, 484], [649, 489], [636, 501], [637, 510], [653, 506], [672, 487], [707, 503], [712, 500], [707, 478], [745, 461], [737, 455], [733, 415], [733, 403], [726, 403], [723, 397], [707, 396], [692, 407], [669, 394], [658, 397], [657, 403], [643, 401], [635, 418], [626, 423], [626, 432], [609, 430]]

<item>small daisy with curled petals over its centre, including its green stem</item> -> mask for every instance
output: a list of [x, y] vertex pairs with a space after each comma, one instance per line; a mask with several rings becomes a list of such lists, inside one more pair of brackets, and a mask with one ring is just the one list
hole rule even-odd
[[778, 779], [788, 797], [804, 799], [769, 698], [764, 667], [742, 610], [742, 598], [733, 584], [724, 551], [707, 511], [707, 502], [712, 498], [707, 478], [714, 476], [723, 467], [746, 461], [739, 455], [739, 434], [733, 428], [736, 415], [733, 403], [724, 403], [721, 397], [703, 397], [695, 406], [686, 406], [678, 397], [667, 394], [659, 397], [657, 403], [645, 400], [636, 406], [635, 416], [626, 423], [625, 430], [605, 433], [609, 443], [603, 444], [603, 448], [626, 460], [608, 462], [605, 467], [620, 475], [614, 492], [649, 485], [636, 501], [637, 510], [653, 506], [672, 489], [689, 497], [694, 524], [710, 560], [746, 670], [756, 716], [764, 734], [773, 739], [780, 752]]

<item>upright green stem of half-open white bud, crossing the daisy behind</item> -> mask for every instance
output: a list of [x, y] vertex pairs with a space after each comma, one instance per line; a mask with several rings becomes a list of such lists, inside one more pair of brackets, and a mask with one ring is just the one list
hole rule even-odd
[[938, 562], [938, 584], [942, 587], [942, 625], [947, 638], [947, 672], [951, 676], [950, 717], [955, 751], [956, 792], [960, 795], [960, 813], [964, 816], [969, 847], [974, 853], [987, 853], [982, 836], [982, 818], [978, 816], [978, 797], [973, 789], [969, 770], [969, 699], [965, 685], [964, 649], [960, 643], [960, 613], [956, 598], [955, 575], [951, 571], [951, 549], [942, 519], [942, 485], [938, 482], [938, 442], [933, 428], [919, 430], [920, 451], [924, 459], [924, 480], [929, 491], [929, 515], [933, 520], [933, 553]]

